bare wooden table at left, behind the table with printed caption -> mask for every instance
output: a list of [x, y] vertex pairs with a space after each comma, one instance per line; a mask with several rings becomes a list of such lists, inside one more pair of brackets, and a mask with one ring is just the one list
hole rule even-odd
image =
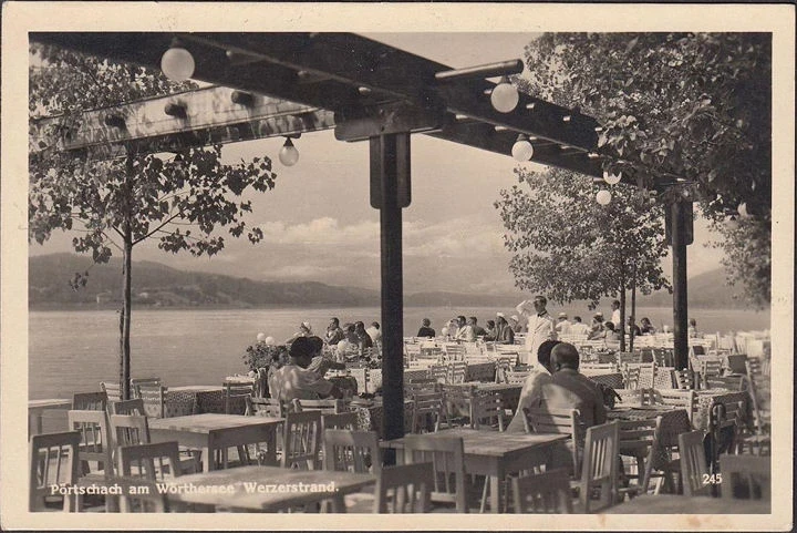
[[214, 452], [228, 448], [265, 442], [268, 447], [266, 461], [277, 463], [277, 428], [281, 418], [244, 417], [240, 414], [189, 414], [153, 419], [149, 421], [152, 442], [176, 440], [180, 445], [201, 448], [204, 470], [215, 470]]

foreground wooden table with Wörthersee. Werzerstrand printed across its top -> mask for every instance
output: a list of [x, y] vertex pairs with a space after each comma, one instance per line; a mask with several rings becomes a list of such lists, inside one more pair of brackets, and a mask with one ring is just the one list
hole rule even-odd
[[175, 489], [185, 488], [182, 493], [168, 494], [167, 498], [175, 502], [276, 512], [331, 500], [332, 512], [344, 513], [343, 496], [375, 482], [376, 478], [372, 474], [241, 467], [182, 475], [168, 480], [166, 484]]

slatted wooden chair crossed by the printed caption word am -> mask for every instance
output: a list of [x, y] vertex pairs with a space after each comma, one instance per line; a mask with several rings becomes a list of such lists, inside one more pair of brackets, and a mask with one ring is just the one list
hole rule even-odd
[[[179, 463], [176, 441], [121, 447], [118, 455], [118, 471], [122, 476], [131, 480], [131, 484], [164, 481], [180, 475], [179, 469], [172, 468]], [[168, 510], [165, 494], [157, 490], [154, 493], [149, 491], [149, 494], [138, 492], [122, 491], [120, 509], [123, 513]]]

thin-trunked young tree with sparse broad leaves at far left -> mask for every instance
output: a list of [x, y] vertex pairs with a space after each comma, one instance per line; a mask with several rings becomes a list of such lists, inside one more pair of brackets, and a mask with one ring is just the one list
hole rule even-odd
[[[58, 127], [73, 127], [83, 111], [144, 96], [163, 95], [192, 84], [175, 84], [161, 72], [33, 44], [30, 113], [60, 115]], [[179, 154], [151, 154], [126, 145], [120, 157], [94, 158], [56, 150], [31, 151], [29, 238], [43, 244], [55, 229], [79, 232], [79, 253], [106, 263], [122, 254], [123, 307], [120, 316], [120, 381], [130, 398], [130, 334], [133, 247], [156, 239], [164, 252], [214, 255], [225, 246], [220, 230], [262, 237], [247, 227], [248, 189], [275, 185], [269, 158], [222, 164], [221, 146], [187, 147]], [[85, 285], [87, 270], [72, 280]]]

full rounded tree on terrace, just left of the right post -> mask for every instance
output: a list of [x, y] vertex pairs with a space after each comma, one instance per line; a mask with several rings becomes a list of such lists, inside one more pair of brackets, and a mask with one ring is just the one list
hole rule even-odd
[[[599, 187], [560, 168], [515, 172], [520, 185], [501, 189], [495, 206], [508, 230], [509, 269], [519, 288], [559, 304], [586, 299], [591, 307], [619, 295], [624, 321], [627, 289], [670, 287], [661, 268], [667, 253], [661, 204], [633, 186]], [[596, 202], [600, 188], [611, 188], [609, 205]]]

